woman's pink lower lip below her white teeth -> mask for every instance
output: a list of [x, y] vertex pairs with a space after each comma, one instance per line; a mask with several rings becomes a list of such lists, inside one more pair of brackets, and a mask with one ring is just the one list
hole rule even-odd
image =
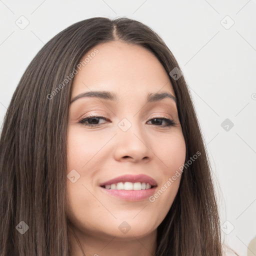
[[104, 193], [119, 197], [124, 200], [140, 201], [151, 196], [154, 193], [156, 186], [141, 190], [106, 189], [102, 186], [100, 186], [100, 188], [103, 189]]

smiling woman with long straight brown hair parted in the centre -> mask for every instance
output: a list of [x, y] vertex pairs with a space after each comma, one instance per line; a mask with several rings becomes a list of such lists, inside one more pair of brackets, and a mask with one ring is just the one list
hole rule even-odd
[[210, 166], [186, 82], [144, 24], [54, 36], [0, 138], [0, 255], [222, 255]]

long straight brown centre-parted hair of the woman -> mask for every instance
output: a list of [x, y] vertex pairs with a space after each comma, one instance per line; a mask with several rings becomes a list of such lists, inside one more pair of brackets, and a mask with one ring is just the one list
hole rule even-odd
[[[41, 48], [13, 93], [0, 137], [0, 256], [70, 255], [65, 170], [72, 78], [66, 84], [63, 80], [85, 53], [112, 40], [150, 50], [167, 73], [180, 70], [151, 28], [124, 17], [79, 21]], [[218, 207], [198, 120], [183, 75], [169, 79], [186, 143], [185, 161], [201, 154], [184, 170], [171, 208], [157, 227], [155, 256], [220, 256]], [[21, 234], [18, 228], [28, 230]]]

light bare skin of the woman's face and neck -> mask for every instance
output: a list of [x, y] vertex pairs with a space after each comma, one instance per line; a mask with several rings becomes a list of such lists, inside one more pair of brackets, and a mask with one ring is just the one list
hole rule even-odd
[[[170, 98], [145, 100], [149, 92], [175, 94], [161, 63], [142, 46], [111, 41], [96, 48], [99, 52], [74, 77], [71, 100], [91, 90], [114, 92], [119, 100], [81, 97], [70, 104], [67, 173], [75, 169], [80, 175], [74, 183], [67, 180], [72, 255], [84, 255], [80, 246], [85, 255], [153, 255], [156, 228], [174, 200], [181, 175], [153, 202], [107, 195], [99, 183], [143, 173], [156, 180], [157, 191], [174, 175], [185, 161], [176, 103]], [[106, 120], [96, 119], [94, 127], [78, 122], [89, 114]], [[164, 116], [176, 124], [164, 127], [165, 120], [150, 120]], [[125, 132], [118, 126], [123, 118], [131, 123]], [[123, 221], [130, 226], [126, 233], [118, 228]]]

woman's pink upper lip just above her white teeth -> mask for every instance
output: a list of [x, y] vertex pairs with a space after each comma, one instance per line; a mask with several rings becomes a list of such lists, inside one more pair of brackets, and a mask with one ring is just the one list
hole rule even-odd
[[115, 184], [118, 182], [132, 182], [132, 183], [145, 182], [145, 183], [149, 183], [151, 186], [157, 185], [156, 181], [153, 178], [145, 174], [138, 174], [138, 175], [126, 174], [126, 175], [118, 176], [116, 178], [109, 179], [103, 183], [100, 183], [99, 185], [104, 186], [104, 185]]

